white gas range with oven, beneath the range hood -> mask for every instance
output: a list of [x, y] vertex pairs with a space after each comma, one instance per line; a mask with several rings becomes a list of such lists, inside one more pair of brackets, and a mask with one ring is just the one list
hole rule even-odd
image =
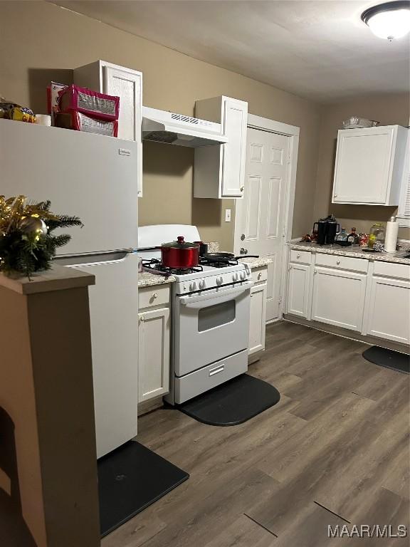
[[[153, 234], [154, 232], [154, 234]], [[196, 226], [142, 226], [140, 248], [184, 235], [198, 241]], [[148, 244], [148, 245], [147, 245]], [[139, 251], [150, 271], [162, 269], [160, 251]], [[166, 269], [167, 270], [167, 269]], [[172, 283], [171, 389], [181, 404], [248, 370], [251, 269], [237, 261], [202, 261], [190, 271], [165, 271]]]

